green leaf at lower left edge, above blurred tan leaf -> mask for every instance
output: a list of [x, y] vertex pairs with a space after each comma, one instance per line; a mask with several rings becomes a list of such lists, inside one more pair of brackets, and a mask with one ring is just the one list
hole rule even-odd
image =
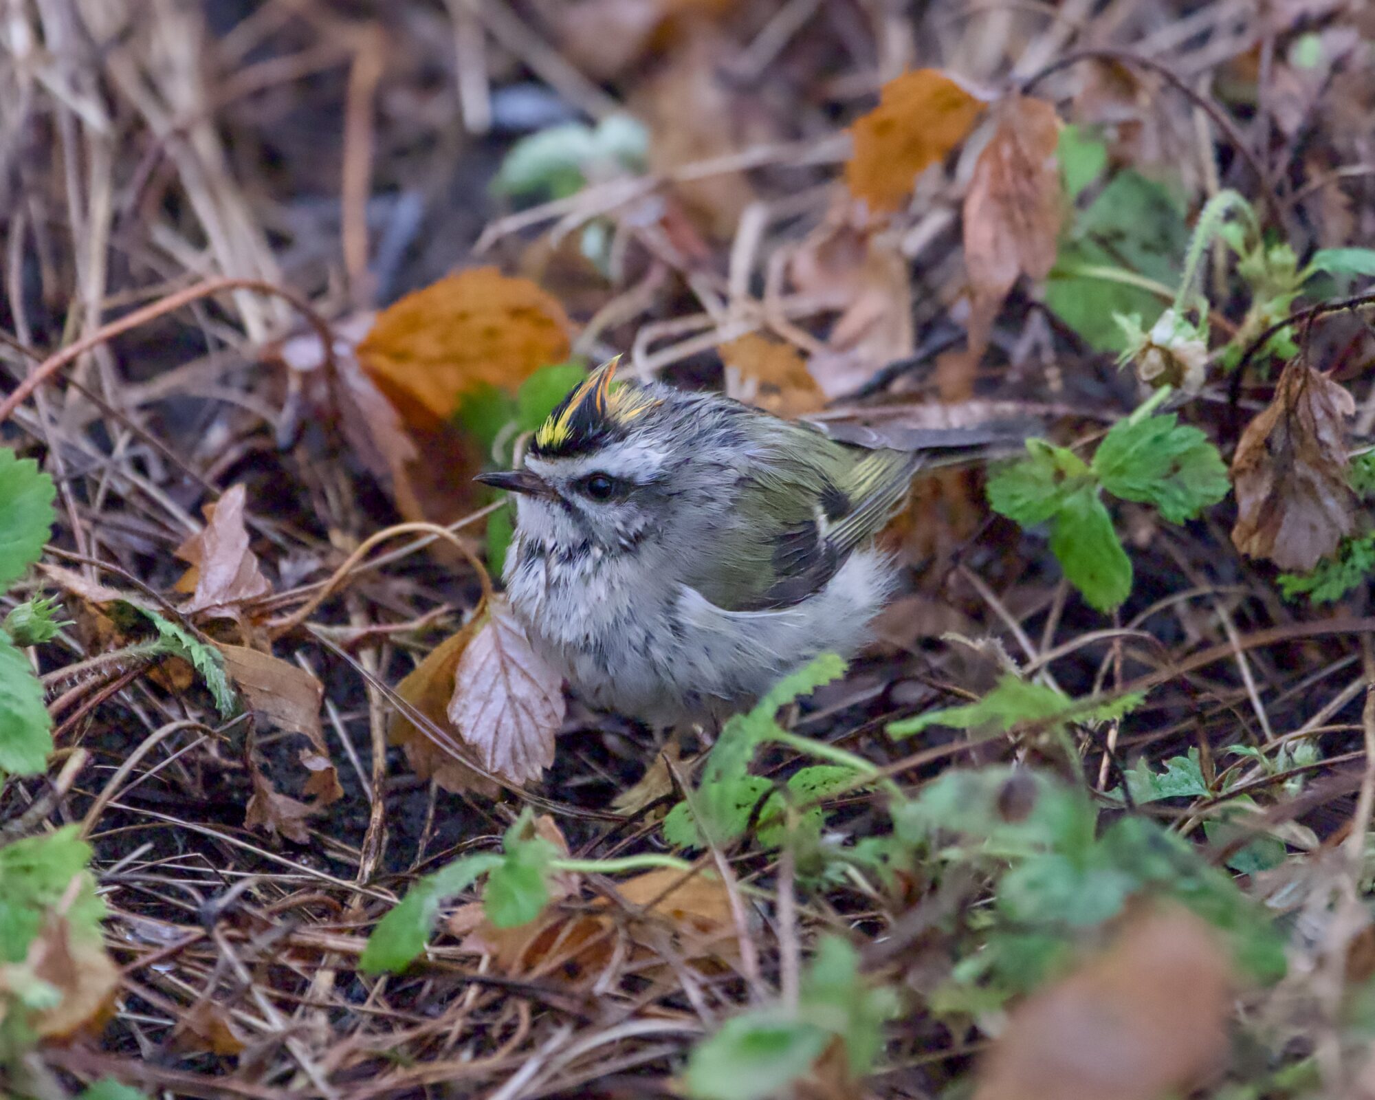
[[0, 848], [0, 960], [23, 961], [44, 914], [65, 898], [78, 876], [81, 886], [66, 910], [67, 924], [74, 936], [100, 938], [104, 902], [96, 896], [89, 862], [91, 846], [81, 840], [77, 825]]

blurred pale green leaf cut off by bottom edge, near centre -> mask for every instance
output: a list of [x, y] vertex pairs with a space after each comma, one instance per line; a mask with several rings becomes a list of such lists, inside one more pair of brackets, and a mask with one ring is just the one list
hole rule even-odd
[[770, 1009], [747, 1012], [693, 1048], [683, 1084], [696, 1100], [777, 1096], [811, 1068], [829, 1042], [830, 1035], [815, 1024]]

